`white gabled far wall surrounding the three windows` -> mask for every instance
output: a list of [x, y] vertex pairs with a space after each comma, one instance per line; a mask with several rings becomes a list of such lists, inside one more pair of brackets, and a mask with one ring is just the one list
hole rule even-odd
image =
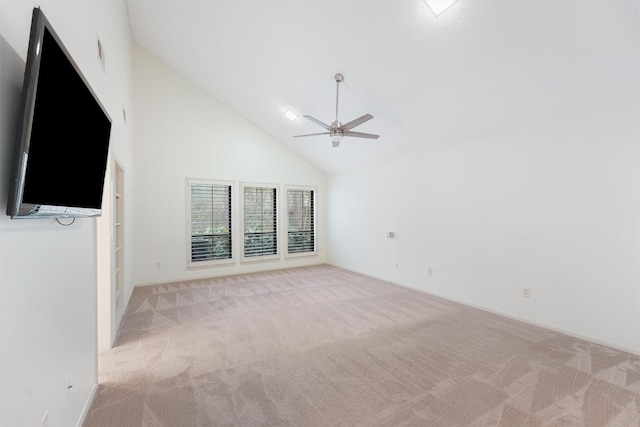
[[[148, 52], [136, 48], [134, 58], [135, 283], [324, 262], [325, 175]], [[187, 178], [233, 181], [236, 193], [240, 181], [317, 187], [320, 254], [296, 260], [187, 268]], [[238, 205], [234, 208], [237, 249], [240, 217]]]

